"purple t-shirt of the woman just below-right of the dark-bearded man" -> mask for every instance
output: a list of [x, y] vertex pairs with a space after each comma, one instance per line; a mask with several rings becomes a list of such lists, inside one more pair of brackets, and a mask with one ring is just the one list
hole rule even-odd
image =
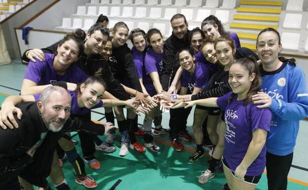
[[208, 65], [196, 62], [195, 70], [192, 75], [186, 70], [182, 73], [181, 85], [188, 88], [187, 94], [192, 94], [194, 87], [205, 88], [209, 77], [210, 69]]

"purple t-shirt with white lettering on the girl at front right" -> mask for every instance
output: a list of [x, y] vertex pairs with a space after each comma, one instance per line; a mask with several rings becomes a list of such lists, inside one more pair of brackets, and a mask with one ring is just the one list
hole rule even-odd
[[[232, 92], [219, 97], [217, 105], [225, 112], [227, 132], [225, 134], [224, 159], [232, 172], [244, 158], [256, 129], [269, 131], [271, 112], [268, 108], [259, 109], [255, 104], [244, 105], [244, 100], [237, 101], [237, 95], [232, 100]], [[257, 176], [264, 172], [266, 165], [266, 146], [258, 157], [248, 167], [246, 175]]]

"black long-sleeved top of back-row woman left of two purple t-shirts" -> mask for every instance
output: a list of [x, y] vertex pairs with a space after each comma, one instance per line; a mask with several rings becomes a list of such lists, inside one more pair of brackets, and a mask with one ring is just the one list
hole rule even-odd
[[113, 47], [113, 54], [108, 61], [111, 71], [115, 78], [124, 83], [124, 80], [130, 80], [135, 90], [142, 92], [141, 84], [136, 73], [133, 55], [127, 44], [120, 47]]

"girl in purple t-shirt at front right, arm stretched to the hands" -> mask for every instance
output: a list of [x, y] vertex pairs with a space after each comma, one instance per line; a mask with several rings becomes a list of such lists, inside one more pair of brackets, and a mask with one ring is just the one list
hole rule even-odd
[[225, 112], [223, 164], [227, 183], [231, 190], [255, 190], [265, 169], [264, 145], [271, 121], [269, 109], [258, 109], [258, 105], [251, 102], [261, 86], [257, 61], [253, 58], [236, 60], [231, 65], [228, 83], [232, 92], [184, 105], [185, 108], [193, 105], [219, 107]]

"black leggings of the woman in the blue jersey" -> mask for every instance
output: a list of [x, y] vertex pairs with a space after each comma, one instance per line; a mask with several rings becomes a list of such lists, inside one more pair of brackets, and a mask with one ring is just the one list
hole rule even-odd
[[267, 152], [267, 176], [269, 190], [286, 190], [293, 152], [284, 156]]

